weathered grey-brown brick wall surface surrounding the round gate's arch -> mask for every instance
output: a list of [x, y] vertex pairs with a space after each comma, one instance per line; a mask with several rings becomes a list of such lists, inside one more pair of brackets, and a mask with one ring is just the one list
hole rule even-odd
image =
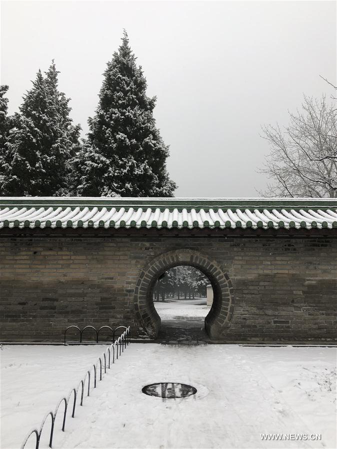
[[61, 342], [73, 324], [126, 324], [135, 337], [139, 276], [186, 250], [214, 261], [231, 284], [222, 341], [336, 339], [335, 237], [109, 236], [1, 238], [1, 341]]

